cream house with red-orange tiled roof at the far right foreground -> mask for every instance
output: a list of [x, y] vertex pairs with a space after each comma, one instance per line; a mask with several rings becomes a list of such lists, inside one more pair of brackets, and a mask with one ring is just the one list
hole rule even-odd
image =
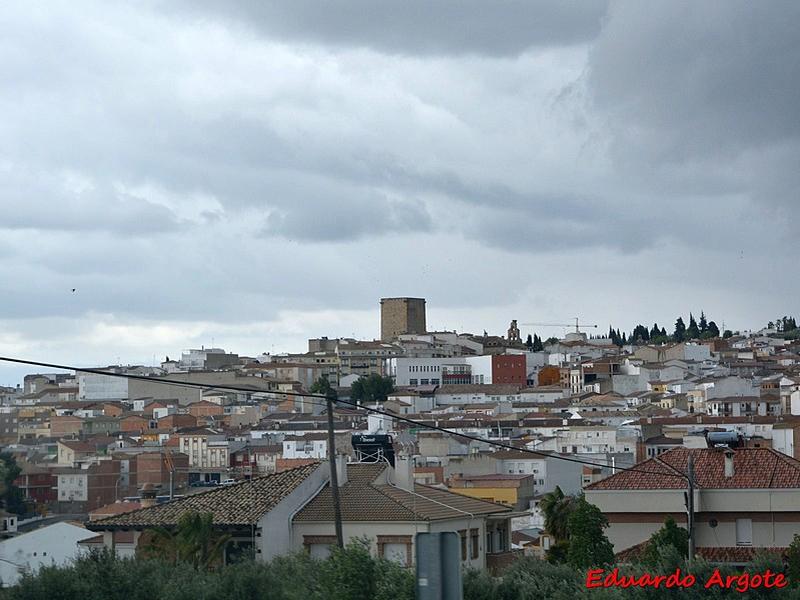
[[800, 533], [800, 461], [768, 448], [675, 448], [585, 489], [608, 518], [615, 552], [645, 542], [668, 515], [685, 527], [687, 482], [679, 473], [690, 454], [699, 555], [746, 562], [757, 549], [784, 550]]

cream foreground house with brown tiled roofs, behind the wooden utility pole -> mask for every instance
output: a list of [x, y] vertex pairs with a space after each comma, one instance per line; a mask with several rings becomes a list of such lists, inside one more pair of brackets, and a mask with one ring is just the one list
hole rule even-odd
[[[410, 566], [417, 533], [455, 531], [465, 566], [492, 568], [514, 555], [509, 507], [416, 484], [410, 460], [398, 457], [398, 463], [393, 469], [385, 463], [339, 461], [345, 542], [366, 538], [376, 555]], [[211, 513], [214, 524], [231, 535], [231, 549], [254, 551], [262, 560], [300, 549], [324, 557], [336, 543], [327, 463], [256, 477], [88, 527], [103, 533], [108, 548], [122, 538], [135, 546], [148, 529], [174, 527], [189, 511]]]

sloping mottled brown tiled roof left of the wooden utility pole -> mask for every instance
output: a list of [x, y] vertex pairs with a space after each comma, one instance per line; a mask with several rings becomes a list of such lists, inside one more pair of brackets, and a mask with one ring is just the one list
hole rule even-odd
[[319, 463], [93, 521], [92, 531], [174, 526], [186, 512], [211, 513], [215, 525], [252, 525], [308, 477]]

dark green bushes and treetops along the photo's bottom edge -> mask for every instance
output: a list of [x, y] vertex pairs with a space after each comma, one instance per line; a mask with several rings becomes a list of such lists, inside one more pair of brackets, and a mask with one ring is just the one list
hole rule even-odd
[[[658, 565], [628, 569], [626, 573], [667, 573], [685, 564], [665, 552]], [[768, 558], [753, 565], [781, 570]], [[705, 581], [713, 568], [697, 563], [691, 572]], [[553, 565], [533, 558], [517, 561], [502, 577], [468, 571], [465, 600], [651, 600], [672, 598], [788, 598], [800, 600], [794, 583], [781, 590], [740, 594], [735, 590], [705, 590], [698, 584], [687, 590], [586, 589], [586, 571]], [[324, 561], [305, 554], [281, 557], [269, 563], [241, 562], [204, 569], [188, 562], [163, 559], [115, 559], [94, 554], [69, 567], [47, 567], [23, 577], [19, 585], [0, 591], [0, 600], [412, 600], [414, 573], [373, 558], [361, 544], [351, 544]]]

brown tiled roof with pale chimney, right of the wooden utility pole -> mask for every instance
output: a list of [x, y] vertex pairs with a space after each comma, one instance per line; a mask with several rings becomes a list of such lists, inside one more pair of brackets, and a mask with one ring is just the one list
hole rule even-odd
[[[417, 484], [411, 493], [387, 484], [386, 469], [384, 464], [348, 465], [347, 483], [339, 489], [343, 521], [436, 521], [511, 510], [427, 485]], [[332, 520], [333, 500], [327, 485], [295, 516], [295, 521]]]

